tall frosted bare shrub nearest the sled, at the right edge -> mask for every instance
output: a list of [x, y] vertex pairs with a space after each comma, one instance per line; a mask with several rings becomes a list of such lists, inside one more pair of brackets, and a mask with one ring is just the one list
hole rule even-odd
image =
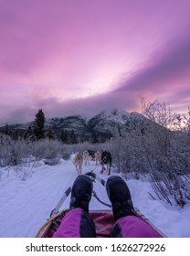
[[146, 120], [142, 120], [142, 145], [150, 165], [153, 189], [159, 198], [170, 204], [174, 201], [183, 208], [190, 197], [189, 160], [185, 154], [188, 133], [174, 131], [178, 115], [166, 103], [146, 104], [142, 99], [142, 114], [152, 121], [147, 129]]

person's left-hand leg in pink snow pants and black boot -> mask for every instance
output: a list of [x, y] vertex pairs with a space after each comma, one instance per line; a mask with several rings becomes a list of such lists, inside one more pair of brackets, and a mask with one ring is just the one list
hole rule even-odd
[[92, 187], [89, 176], [80, 175], [76, 178], [71, 191], [70, 211], [62, 219], [54, 238], [96, 237], [95, 225], [89, 215]]

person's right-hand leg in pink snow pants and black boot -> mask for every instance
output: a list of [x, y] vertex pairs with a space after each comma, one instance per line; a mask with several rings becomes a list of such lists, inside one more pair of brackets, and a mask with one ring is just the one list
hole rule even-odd
[[161, 235], [145, 220], [137, 217], [129, 187], [120, 176], [111, 176], [106, 183], [115, 224], [111, 237], [158, 238]]

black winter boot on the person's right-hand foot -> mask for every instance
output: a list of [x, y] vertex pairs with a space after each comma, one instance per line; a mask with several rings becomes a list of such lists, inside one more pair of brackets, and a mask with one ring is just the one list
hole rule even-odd
[[106, 190], [111, 200], [115, 221], [124, 216], [135, 215], [129, 187], [127, 187], [121, 176], [109, 177], [106, 183]]

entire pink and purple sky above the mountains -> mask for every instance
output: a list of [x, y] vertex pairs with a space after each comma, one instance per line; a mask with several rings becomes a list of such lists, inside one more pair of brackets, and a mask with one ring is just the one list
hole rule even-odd
[[0, 0], [0, 124], [190, 105], [189, 0]]

